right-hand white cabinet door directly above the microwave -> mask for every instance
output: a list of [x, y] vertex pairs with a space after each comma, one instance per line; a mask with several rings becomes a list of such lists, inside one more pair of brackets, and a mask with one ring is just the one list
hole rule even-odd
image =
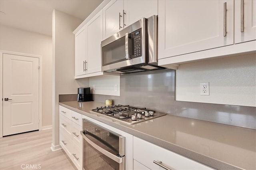
[[157, 7], [157, 0], [124, 0], [124, 24], [129, 26], [141, 18], [157, 15]]

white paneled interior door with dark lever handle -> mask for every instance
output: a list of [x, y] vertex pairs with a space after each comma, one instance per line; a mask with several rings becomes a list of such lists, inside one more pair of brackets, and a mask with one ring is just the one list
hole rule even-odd
[[3, 136], [37, 129], [39, 58], [3, 54]]

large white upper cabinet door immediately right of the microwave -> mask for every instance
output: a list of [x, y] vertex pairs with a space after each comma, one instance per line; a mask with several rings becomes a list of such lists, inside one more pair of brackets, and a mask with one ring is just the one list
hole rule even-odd
[[233, 44], [233, 12], [231, 0], [159, 0], [158, 58]]

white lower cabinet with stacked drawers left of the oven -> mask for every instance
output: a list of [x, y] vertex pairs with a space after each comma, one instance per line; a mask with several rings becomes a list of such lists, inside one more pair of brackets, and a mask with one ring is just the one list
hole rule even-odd
[[[82, 170], [82, 115], [60, 106], [60, 146], [78, 170]], [[66, 112], [63, 113], [62, 111]], [[68, 113], [68, 114], [67, 114]]]

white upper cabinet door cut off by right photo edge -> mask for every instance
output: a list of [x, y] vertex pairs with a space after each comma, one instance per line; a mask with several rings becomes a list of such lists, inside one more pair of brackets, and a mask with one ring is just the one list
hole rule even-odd
[[256, 40], [256, 0], [235, 0], [235, 43], [251, 40]]

